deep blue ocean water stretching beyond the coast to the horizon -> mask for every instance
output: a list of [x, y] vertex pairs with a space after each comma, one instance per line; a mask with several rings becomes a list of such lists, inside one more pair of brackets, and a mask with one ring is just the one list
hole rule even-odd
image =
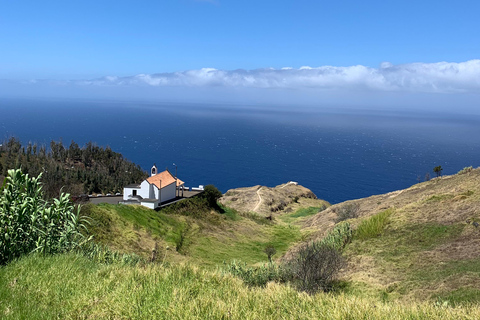
[[479, 166], [480, 117], [334, 108], [0, 100], [2, 138], [110, 146], [187, 186], [297, 181], [331, 203]]

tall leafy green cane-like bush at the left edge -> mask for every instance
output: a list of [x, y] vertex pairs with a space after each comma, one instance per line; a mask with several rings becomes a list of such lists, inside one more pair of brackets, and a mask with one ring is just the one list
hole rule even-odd
[[53, 254], [80, 246], [85, 219], [69, 194], [43, 200], [38, 178], [9, 170], [0, 194], [0, 265], [31, 252]]

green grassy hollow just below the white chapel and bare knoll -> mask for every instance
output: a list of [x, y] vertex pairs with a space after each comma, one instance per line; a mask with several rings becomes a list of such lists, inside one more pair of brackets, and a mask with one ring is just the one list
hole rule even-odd
[[300, 224], [318, 210], [310, 207], [303, 210], [306, 213], [292, 212], [273, 221], [229, 208], [224, 208], [224, 213], [210, 210], [195, 217], [141, 206], [100, 204], [85, 206], [83, 213], [92, 220], [90, 230], [95, 241], [114, 250], [148, 258], [157, 243], [159, 256], [166, 256], [168, 262], [216, 267], [233, 260], [251, 265], [265, 263], [267, 245], [275, 247], [274, 258], [280, 257], [290, 246], [306, 239], [308, 232], [303, 232]]

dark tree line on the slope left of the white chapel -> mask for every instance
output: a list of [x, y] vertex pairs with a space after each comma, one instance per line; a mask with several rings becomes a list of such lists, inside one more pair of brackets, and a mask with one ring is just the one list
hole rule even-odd
[[19, 168], [30, 176], [43, 174], [43, 190], [48, 198], [58, 196], [60, 189], [72, 195], [121, 192], [124, 186], [147, 177], [140, 166], [110, 147], [93, 142], [80, 147], [74, 141], [65, 146], [62, 141], [52, 141], [47, 149], [31, 142], [22, 146], [13, 137], [0, 146], [0, 176]]

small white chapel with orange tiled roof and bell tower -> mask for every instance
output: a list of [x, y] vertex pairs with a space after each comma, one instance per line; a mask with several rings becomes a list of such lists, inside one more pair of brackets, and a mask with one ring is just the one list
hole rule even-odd
[[183, 186], [184, 182], [172, 175], [168, 169], [158, 173], [157, 166], [153, 165], [147, 180], [123, 188], [123, 201], [155, 209], [162, 202], [175, 199]]

